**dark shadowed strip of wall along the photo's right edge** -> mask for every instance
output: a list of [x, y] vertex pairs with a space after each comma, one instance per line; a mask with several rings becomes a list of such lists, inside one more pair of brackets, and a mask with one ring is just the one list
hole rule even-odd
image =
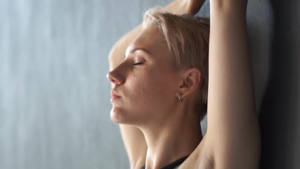
[[260, 107], [262, 169], [300, 169], [300, 1], [271, 0], [268, 84]]

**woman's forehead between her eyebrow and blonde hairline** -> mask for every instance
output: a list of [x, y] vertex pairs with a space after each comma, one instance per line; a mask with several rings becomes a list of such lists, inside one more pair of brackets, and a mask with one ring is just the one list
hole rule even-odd
[[150, 55], [153, 56], [169, 52], [167, 44], [163, 40], [162, 33], [158, 28], [148, 28], [143, 30], [141, 34], [127, 47], [126, 56], [130, 54], [130, 51], [136, 48], [144, 48], [150, 53]]

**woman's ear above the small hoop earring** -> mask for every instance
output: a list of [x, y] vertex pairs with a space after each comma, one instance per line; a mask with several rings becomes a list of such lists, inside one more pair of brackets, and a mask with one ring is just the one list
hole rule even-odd
[[195, 91], [200, 84], [201, 72], [197, 68], [190, 68], [183, 73], [183, 81], [179, 86], [182, 97]]

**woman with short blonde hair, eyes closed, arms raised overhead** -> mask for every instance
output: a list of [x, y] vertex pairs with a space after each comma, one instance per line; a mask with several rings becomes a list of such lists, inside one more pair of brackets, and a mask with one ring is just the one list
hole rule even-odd
[[259, 166], [247, 0], [210, 0], [210, 32], [205, 19], [180, 15], [197, 13], [203, 2], [175, 0], [163, 8], [170, 13], [150, 9], [112, 47], [111, 119], [120, 124], [131, 169]]

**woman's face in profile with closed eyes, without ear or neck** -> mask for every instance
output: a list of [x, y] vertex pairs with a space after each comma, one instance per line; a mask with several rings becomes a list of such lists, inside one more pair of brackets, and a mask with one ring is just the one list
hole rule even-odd
[[127, 47], [125, 60], [108, 74], [121, 96], [111, 100], [113, 122], [162, 123], [178, 104], [180, 74], [174, 71], [171, 53], [159, 34], [158, 28], [144, 30]]

